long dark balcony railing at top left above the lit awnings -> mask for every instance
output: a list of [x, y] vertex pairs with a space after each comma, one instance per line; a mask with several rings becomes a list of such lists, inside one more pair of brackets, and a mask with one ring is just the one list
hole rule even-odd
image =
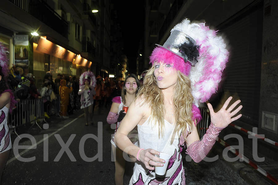
[[51, 27], [62, 36], [68, 38], [68, 23], [62, 19], [46, 2], [42, 0], [9, 0], [16, 6], [31, 14]]

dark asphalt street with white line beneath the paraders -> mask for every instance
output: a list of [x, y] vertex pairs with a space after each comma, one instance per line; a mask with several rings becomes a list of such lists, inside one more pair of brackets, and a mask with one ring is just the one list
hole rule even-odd
[[[85, 126], [83, 112], [78, 111], [66, 120], [49, 120], [49, 128], [44, 127], [47, 129], [40, 130], [36, 125], [29, 130], [30, 125], [19, 128], [19, 134], [28, 134], [25, 137], [33, 137], [34, 143], [28, 138], [19, 140], [12, 134], [14, 149], [11, 150], [4, 170], [2, 184], [113, 185], [115, 169], [111, 160], [110, 139], [114, 130], [106, 122], [108, 111], [104, 109], [97, 114], [96, 110], [94, 125], [89, 126]], [[43, 123], [40, 126], [43, 128]], [[29, 145], [32, 148], [19, 149], [20, 156], [25, 159], [15, 157], [16, 140], [19, 145]], [[215, 154], [212, 152], [210, 155]], [[26, 158], [33, 161], [26, 162]], [[124, 184], [128, 184], [132, 168], [133, 164], [129, 163]], [[184, 158], [184, 168], [189, 185], [248, 184], [221, 159], [195, 163], [186, 162]]]

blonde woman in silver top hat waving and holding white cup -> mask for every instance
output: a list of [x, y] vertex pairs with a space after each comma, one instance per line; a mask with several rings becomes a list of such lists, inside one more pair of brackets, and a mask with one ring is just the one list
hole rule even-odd
[[[200, 141], [196, 128], [201, 119], [198, 104], [216, 91], [227, 61], [222, 37], [205, 23], [187, 19], [171, 30], [163, 46], [154, 48], [150, 56], [152, 67], [115, 135], [116, 145], [137, 158], [130, 185], [185, 185], [183, 145], [187, 147], [185, 152], [200, 162], [221, 130], [241, 117], [235, 115], [242, 106], [232, 111], [240, 100], [227, 107], [232, 97], [228, 98], [216, 113], [208, 104], [212, 123]], [[140, 147], [128, 139], [128, 133], [136, 126]], [[162, 153], [169, 156], [166, 164], [158, 157]], [[164, 165], [164, 175], [154, 171]]]

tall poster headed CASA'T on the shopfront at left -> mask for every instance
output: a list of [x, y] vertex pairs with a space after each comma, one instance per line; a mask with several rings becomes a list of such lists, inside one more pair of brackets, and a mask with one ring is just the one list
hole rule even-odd
[[28, 35], [15, 35], [15, 64], [24, 63], [28, 65], [28, 50]]

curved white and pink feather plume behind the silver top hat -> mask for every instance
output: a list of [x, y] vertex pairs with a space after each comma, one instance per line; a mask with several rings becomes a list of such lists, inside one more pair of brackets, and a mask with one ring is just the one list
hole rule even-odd
[[187, 34], [200, 45], [198, 63], [191, 68], [188, 75], [192, 82], [193, 103], [198, 106], [216, 92], [229, 52], [223, 38], [217, 36], [217, 31], [210, 30], [205, 23], [191, 23], [184, 19], [171, 32], [174, 30]]

